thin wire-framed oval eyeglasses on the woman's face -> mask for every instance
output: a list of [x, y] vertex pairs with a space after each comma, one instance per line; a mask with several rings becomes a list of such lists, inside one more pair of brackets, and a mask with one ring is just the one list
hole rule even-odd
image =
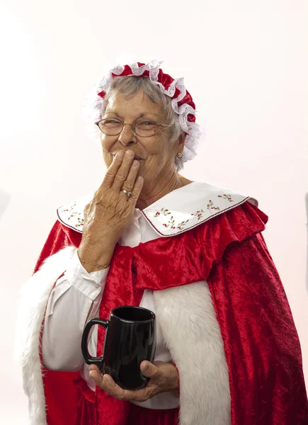
[[122, 123], [120, 120], [105, 118], [95, 123], [98, 128], [107, 136], [120, 135], [125, 125], [131, 125], [132, 130], [140, 137], [151, 137], [160, 127], [169, 127], [166, 124], [157, 124], [152, 120], [139, 119], [133, 124]]

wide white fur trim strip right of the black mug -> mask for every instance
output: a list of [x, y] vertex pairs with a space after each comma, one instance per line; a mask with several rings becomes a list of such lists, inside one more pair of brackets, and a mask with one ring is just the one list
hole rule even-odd
[[154, 300], [180, 373], [180, 425], [231, 424], [227, 361], [207, 283], [155, 291]]

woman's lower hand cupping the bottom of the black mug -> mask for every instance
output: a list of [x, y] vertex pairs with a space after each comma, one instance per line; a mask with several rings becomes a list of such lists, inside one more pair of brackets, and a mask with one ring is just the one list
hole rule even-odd
[[178, 371], [172, 363], [143, 361], [140, 370], [142, 375], [150, 378], [147, 387], [141, 390], [123, 390], [110, 375], [103, 375], [96, 365], [90, 365], [90, 376], [96, 382], [96, 385], [109, 395], [130, 402], [145, 402], [160, 392], [178, 388]]

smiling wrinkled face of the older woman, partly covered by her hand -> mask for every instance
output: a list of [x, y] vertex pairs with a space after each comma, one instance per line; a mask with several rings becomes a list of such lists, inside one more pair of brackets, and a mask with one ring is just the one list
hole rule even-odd
[[[167, 124], [161, 108], [149, 100], [143, 91], [139, 91], [133, 98], [125, 98], [120, 92], [111, 94], [108, 105], [102, 118], [113, 118], [122, 123], [132, 124], [142, 118], [159, 124]], [[131, 125], [125, 125], [120, 135], [108, 136], [101, 133], [103, 158], [106, 166], [113, 162], [113, 155], [128, 149], [139, 157], [139, 175], [144, 178], [144, 186], [153, 186], [157, 181], [174, 173], [174, 158], [177, 152], [182, 152], [179, 140], [171, 143], [159, 130], [154, 136], [140, 137], [132, 130]]]

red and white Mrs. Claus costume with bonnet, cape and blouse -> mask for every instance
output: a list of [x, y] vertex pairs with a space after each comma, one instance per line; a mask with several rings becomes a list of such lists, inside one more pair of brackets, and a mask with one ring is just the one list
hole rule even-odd
[[[159, 67], [117, 67], [98, 96], [115, 75], [149, 77], [174, 100], [187, 155], [195, 105], [183, 79]], [[268, 217], [256, 200], [204, 182], [178, 188], [135, 209], [110, 268], [87, 273], [76, 249], [91, 198], [57, 210], [21, 290], [18, 346], [29, 424], [307, 425], [300, 342], [262, 236]], [[156, 313], [155, 360], [173, 361], [179, 391], [132, 403], [93, 385], [80, 348], [86, 317], [91, 310], [89, 319], [108, 318], [118, 305]], [[104, 329], [93, 331], [91, 353], [101, 356], [103, 338]]]

